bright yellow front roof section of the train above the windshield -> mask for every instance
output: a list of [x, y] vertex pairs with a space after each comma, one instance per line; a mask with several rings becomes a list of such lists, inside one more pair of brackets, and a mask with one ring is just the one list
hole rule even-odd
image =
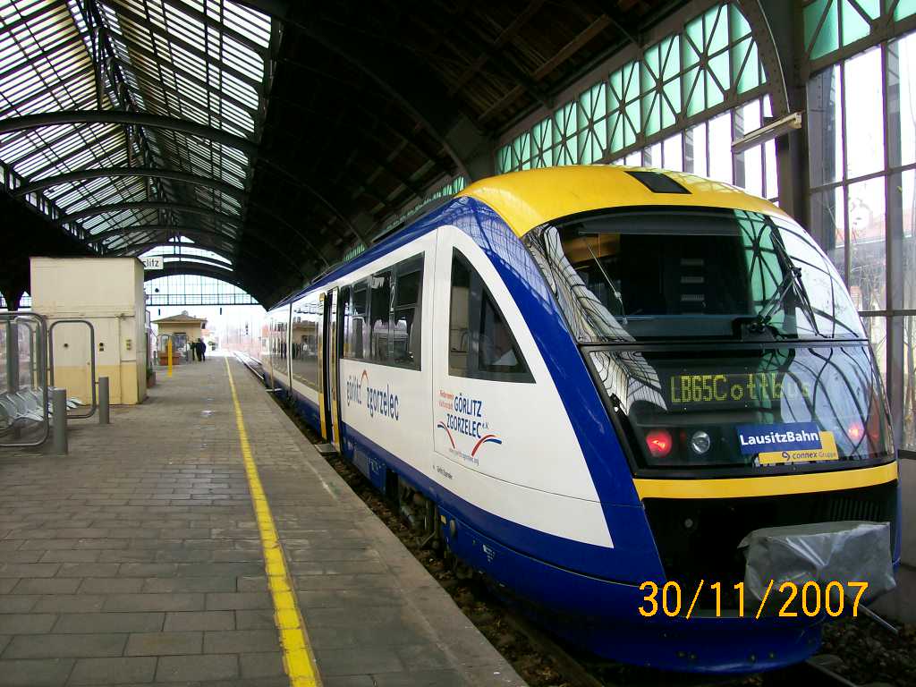
[[512, 230], [604, 208], [671, 205], [788, 215], [776, 205], [721, 181], [687, 172], [617, 165], [571, 165], [511, 172], [476, 181], [458, 196], [485, 202]]

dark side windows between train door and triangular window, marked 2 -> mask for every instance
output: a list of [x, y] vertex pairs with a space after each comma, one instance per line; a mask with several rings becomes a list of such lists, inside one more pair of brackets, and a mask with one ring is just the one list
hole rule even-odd
[[344, 357], [420, 369], [422, 291], [422, 255], [341, 289]]

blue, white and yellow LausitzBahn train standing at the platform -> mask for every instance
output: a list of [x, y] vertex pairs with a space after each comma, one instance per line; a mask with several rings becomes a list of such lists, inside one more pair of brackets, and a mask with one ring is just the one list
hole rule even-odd
[[836, 614], [742, 607], [755, 532], [840, 550], [834, 530], [878, 523], [867, 557], [900, 562], [888, 404], [849, 292], [787, 213], [725, 183], [476, 181], [264, 331], [267, 385], [324, 442], [598, 656], [738, 673], [812, 655]]

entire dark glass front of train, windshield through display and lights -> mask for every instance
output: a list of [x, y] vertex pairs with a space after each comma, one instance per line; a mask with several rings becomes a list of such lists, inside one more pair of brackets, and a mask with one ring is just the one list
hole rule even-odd
[[638, 473], [779, 474], [893, 455], [858, 313], [791, 221], [627, 210], [547, 224], [526, 243]]

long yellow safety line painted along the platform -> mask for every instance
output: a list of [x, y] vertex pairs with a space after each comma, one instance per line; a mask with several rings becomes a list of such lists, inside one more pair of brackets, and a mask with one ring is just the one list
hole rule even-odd
[[267, 572], [270, 597], [274, 603], [274, 622], [277, 624], [280, 646], [283, 648], [283, 667], [289, 675], [291, 687], [320, 687], [322, 680], [315, 665], [314, 654], [311, 652], [309, 634], [302, 621], [299, 604], [296, 602], [296, 592], [289, 579], [289, 570], [283, 558], [277, 527], [274, 525], [274, 517], [270, 513], [267, 495], [257, 474], [251, 444], [248, 443], [245, 417], [242, 414], [242, 405], [238, 402], [238, 394], [235, 393], [235, 382], [228, 357], [226, 372], [229, 373], [229, 387], [232, 389], [232, 402], [235, 406], [235, 426], [238, 429], [239, 443], [242, 445], [242, 457], [245, 459], [248, 489], [251, 491], [257, 529], [264, 549], [264, 569]]

